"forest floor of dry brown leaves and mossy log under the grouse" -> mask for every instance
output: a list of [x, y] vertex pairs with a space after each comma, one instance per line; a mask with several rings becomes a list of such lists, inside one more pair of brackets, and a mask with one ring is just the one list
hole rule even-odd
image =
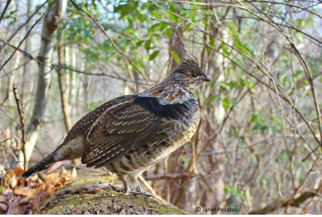
[[22, 179], [23, 172], [1, 174], [0, 214], [187, 214], [153, 198], [115, 191], [121, 186], [112, 176], [75, 177], [63, 169], [42, 181], [38, 175]]

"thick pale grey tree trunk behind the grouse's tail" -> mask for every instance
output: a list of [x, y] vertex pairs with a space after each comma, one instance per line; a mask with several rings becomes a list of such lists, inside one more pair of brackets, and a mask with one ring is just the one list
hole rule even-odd
[[33, 148], [38, 139], [41, 125], [45, 116], [46, 100], [50, 85], [50, 71], [52, 52], [54, 47], [54, 36], [57, 27], [66, 11], [67, 0], [55, 0], [52, 7], [44, 17], [41, 48], [37, 59], [44, 63], [38, 63], [39, 74], [35, 97], [33, 115], [27, 128], [26, 158], [29, 161]]

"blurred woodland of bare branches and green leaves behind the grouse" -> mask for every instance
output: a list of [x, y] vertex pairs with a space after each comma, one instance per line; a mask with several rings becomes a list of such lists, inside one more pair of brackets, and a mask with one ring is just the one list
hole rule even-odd
[[321, 1], [0, 0], [0, 13], [0, 194], [86, 113], [192, 54], [212, 83], [192, 140], [143, 174], [156, 193], [188, 213], [322, 213]]

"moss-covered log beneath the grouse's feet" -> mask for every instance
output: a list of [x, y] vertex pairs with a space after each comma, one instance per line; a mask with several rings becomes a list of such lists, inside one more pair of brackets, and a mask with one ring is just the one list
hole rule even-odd
[[142, 195], [113, 190], [109, 176], [79, 178], [40, 207], [45, 214], [187, 214]]

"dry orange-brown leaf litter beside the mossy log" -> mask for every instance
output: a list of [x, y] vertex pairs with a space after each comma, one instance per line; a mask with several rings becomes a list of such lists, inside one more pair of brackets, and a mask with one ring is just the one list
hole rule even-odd
[[64, 168], [48, 174], [44, 181], [37, 174], [20, 178], [23, 173], [19, 167], [1, 171], [0, 214], [40, 214], [39, 206], [48, 196], [75, 180]]

